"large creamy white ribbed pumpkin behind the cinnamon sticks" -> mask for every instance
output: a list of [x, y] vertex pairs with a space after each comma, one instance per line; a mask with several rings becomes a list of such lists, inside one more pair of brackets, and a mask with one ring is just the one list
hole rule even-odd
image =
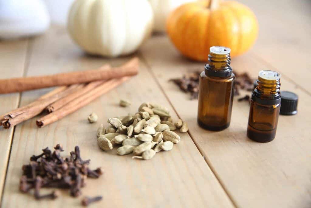
[[109, 57], [137, 50], [152, 28], [147, 0], [76, 0], [68, 17], [69, 33], [82, 49]]

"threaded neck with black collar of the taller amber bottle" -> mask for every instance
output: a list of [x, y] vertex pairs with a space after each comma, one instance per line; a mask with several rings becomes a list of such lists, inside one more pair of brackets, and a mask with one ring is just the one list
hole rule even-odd
[[205, 74], [212, 77], [230, 77], [232, 74], [230, 60], [230, 53], [215, 54], [210, 52], [208, 64], [205, 65]]

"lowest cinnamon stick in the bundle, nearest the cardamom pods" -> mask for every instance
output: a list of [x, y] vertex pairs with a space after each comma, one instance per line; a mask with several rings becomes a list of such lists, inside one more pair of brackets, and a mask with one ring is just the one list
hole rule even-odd
[[63, 117], [67, 116], [68, 114], [73, 113], [74, 111], [82, 108], [83, 106], [89, 104], [94, 99], [100, 97], [102, 94], [108, 92], [109, 90], [113, 89], [114, 87], [122, 84], [126, 80], [128, 80], [129, 77], [123, 77], [119, 79], [112, 79], [109, 81], [104, 82], [103, 84], [97, 86], [95, 89], [91, 90], [89, 93], [86, 93], [77, 99], [72, 100], [62, 108], [54, 111], [53, 113], [50, 113], [38, 120], [36, 120], [36, 124], [38, 127], [46, 126], [50, 123], [53, 123], [55, 121], [58, 121], [59, 119], [62, 119]]

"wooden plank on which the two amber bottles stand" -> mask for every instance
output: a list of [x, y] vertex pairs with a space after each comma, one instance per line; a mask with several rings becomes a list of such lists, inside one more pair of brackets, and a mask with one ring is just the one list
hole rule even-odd
[[[281, 79], [281, 89], [299, 95], [298, 114], [280, 116], [277, 135], [270, 143], [256, 143], [246, 136], [249, 104], [234, 100], [230, 127], [211, 132], [197, 125], [197, 100], [168, 80], [203, 70], [203, 63], [182, 57], [166, 36], [157, 36], [142, 54], [178, 115], [188, 122], [189, 132], [206, 161], [237, 207], [309, 207], [311, 204], [311, 97]], [[253, 77], [265, 63], [251, 54], [232, 61], [234, 71]], [[298, 72], [298, 71], [297, 71]]]

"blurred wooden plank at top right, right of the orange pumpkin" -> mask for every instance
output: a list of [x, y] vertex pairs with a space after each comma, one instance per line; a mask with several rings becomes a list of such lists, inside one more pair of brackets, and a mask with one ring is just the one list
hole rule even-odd
[[[311, 94], [311, 1], [241, 0], [256, 14], [259, 36], [252, 52]], [[297, 73], [297, 70], [299, 73]]]

